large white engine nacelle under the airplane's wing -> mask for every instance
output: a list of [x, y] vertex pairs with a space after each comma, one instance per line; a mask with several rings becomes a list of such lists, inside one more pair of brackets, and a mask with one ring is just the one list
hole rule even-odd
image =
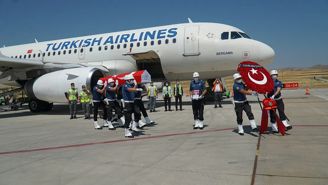
[[64, 69], [42, 75], [36, 79], [27, 81], [24, 85], [25, 94], [31, 99], [38, 99], [52, 103], [67, 103], [67, 91], [71, 88], [71, 83], [78, 88], [78, 93], [82, 85], [91, 92], [100, 78], [105, 77], [105, 73], [99, 68], [79, 67]]

